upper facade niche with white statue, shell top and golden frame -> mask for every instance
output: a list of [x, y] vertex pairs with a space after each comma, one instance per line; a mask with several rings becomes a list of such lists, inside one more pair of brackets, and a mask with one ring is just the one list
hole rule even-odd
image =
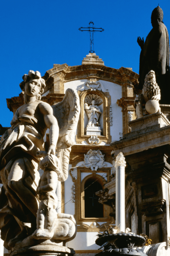
[[111, 143], [109, 92], [83, 90], [79, 93], [80, 117], [77, 128], [77, 143], [99, 145], [101, 142]]

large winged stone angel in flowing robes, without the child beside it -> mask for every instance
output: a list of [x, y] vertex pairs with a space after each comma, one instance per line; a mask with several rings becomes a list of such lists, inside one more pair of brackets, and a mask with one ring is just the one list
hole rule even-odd
[[4, 246], [9, 250], [18, 241], [31, 236], [37, 228], [40, 204], [38, 169], [42, 156], [36, 153], [45, 151], [43, 137], [47, 128], [50, 140], [47, 158], [55, 155], [57, 146], [59, 177], [61, 180], [68, 177], [69, 154], [75, 142], [80, 113], [79, 97], [75, 90], [68, 89], [62, 102], [51, 107], [40, 100], [44, 87], [45, 80], [40, 72], [30, 70], [28, 75], [23, 76], [20, 88], [25, 103], [15, 112], [11, 128], [0, 141], [0, 179], [3, 184], [0, 229]]

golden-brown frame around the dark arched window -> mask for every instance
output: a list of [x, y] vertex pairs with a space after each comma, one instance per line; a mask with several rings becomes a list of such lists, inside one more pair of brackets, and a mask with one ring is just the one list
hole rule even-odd
[[[111, 174], [111, 167], [103, 167], [102, 169], [98, 169], [97, 171], [91, 171], [91, 169], [87, 169], [85, 167], [79, 167], [77, 166], [77, 180], [74, 180], [75, 186], [76, 186], [76, 194], [75, 194], [75, 215], [74, 218], [77, 221], [77, 225], [81, 225], [82, 222], [107, 222], [105, 224], [110, 223], [111, 217], [109, 216], [111, 212], [111, 207], [103, 204], [103, 213], [104, 217], [103, 218], [85, 218], [85, 198], [84, 198], [84, 186], [85, 186], [85, 181], [88, 180], [90, 177], [97, 177], [100, 179], [100, 184], [104, 186], [105, 183], [105, 178], [100, 176], [97, 173], [105, 173], [107, 177]], [[81, 174], [82, 173], [89, 173], [89, 175], [85, 176], [83, 180], [81, 181]], [[82, 225], [81, 225], [82, 226]], [[82, 227], [81, 227], [82, 229]], [[85, 228], [87, 230], [87, 228]], [[96, 228], [95, 228], [96, 230]]]

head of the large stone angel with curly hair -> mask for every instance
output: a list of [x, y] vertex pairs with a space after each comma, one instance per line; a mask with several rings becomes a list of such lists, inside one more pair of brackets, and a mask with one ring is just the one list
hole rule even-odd
[[28, 75], [23, 75], [23, 81], [20, 83], [21, 90], [28, 96], [36, 96], [36, 99], [41, 99], [45, 87], [45, 80], [41, 78], [39, 71], [29, 70]]

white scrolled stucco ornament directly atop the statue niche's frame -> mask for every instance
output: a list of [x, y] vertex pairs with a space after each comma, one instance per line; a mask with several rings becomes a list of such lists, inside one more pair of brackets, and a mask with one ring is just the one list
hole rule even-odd
[[108, 89], [105, 89], [102, 85], [102, 83], [99, 83], [96, 79], [90, 79], [90, 81], [87, 81], [85, 84], [82, 85], [82, 87], [78, 87], [78, 90], [101, 90], [103, 92], [108, 92]]

